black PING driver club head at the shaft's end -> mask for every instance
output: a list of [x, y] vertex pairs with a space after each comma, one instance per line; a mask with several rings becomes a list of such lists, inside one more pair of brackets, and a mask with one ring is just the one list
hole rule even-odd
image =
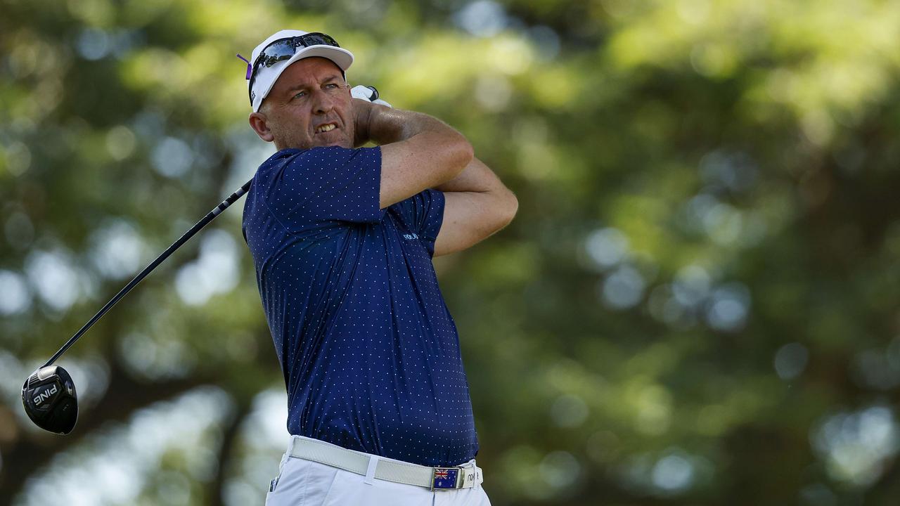
[[41, 367], [22, 386], [22, 402], [28, 418], [44, 430], [68, 434], [78, 420], [75, 383], [60, 366]]

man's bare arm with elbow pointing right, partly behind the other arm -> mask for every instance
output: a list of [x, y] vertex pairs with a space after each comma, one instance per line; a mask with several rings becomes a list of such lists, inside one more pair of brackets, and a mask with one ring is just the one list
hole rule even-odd
[[437, 185], [444, 192], [444, 222], [437, 233], [435, 256], [473, 246], [501, 230], [518, 211], [516, 195], [478, 158], [459, 176]]

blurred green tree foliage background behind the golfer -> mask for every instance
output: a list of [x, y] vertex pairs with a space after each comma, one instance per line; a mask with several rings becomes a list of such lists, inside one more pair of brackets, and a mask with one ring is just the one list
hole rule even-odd
[[285, 27], [518, 194], [436, 262], [494, 504], [900, 497], [900, 4], [0, 7], [0, 504], [263, 501], [284, 384], [240, 203], [61, 359], [73, 434], [19, 395], [271, 153], [233, 55]]

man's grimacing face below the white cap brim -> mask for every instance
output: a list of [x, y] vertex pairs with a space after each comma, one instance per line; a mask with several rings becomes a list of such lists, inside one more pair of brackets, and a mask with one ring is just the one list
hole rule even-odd
[[285, 68], [250, 125], [275, 148], [353, 148], [350, 86], [330, 59], [300, 59]]

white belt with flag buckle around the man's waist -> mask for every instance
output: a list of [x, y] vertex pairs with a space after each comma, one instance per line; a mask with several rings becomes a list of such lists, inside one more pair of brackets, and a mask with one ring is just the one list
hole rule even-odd
[[311, 438], [293, 438], [290, 456], [338, 467], [351, 473], [363, 474], [366, 480], [375, 478], [394, 483], [417, 485], [431, 490], [471, 488], [484, 481], [482, 469], [474, 464], [455, 467], [428, 467], [376, 455], [349, 450]]

